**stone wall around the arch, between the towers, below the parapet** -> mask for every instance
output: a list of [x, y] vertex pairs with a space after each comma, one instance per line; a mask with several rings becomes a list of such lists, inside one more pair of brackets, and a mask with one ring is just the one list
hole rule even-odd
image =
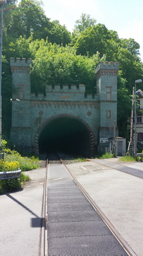
[[35, 143], [35, 136], [45, 125], [53, 118], [70, 117], [80, 120], [83, 125], [87, 126], [89, 132], [94, 133], [96, 146], [98, 142], [99, 129], [99, 105], [98, 104], [38, 104], [31, 106], [31, 128], [32, 128], [32, 145]]

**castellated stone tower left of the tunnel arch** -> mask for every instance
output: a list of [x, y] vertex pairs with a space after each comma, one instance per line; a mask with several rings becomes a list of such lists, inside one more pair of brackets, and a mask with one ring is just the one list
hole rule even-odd
[[31, 147], [30, 64], [30, 59], [10, 59], [13, 84], [10, 139], [25, 149]]

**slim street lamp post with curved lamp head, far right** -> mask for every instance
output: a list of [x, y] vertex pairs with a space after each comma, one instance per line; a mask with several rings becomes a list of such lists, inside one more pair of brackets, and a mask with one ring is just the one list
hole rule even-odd
[[139, 82], [142, 82], [141, 79], [138, 79], [135, 81], [134, 86], [134, 157], [137, 156], [137, 132], [136, 132], [136, 84], [139, 84]]

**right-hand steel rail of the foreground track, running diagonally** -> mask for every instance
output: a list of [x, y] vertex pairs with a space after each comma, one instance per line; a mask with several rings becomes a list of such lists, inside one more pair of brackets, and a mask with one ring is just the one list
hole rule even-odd
[[105, 214], [100, 210], [100, 208], [96, 205], [96, 203], [92, 200], [91, 196], [88, 195], [88, 193], [86, 192], [86, 190], [84, 190], [84, 188], [81, 186], [81, 184], [78, 182], [78, 180], [76, 179], [76, 177], [71, 173], [70, 169], [68, 169], [67, 165], [64, 163], [64, 161], [62, 161], [62, 159], [60, 159], [60, 162], [66, 167], [66, 169], [68, 170], [68, 172], [70, 173], [71, 177], [73, 177], [73, 180], [75, 180], [75, 183], [78, 185], [78, 187], [80, 187], [81, 191], [83, 192], [83, 194], [86, 196], [86, 198], [88, 199], [89, 203], [91, 203], [91, 205], [93, 206], [93, 208], [97, 211], [97, 213], [100, 215], [100, 217], [103, 219], [104, 223], [108, 226], [108, 228], [110, 229], [110, 231], [113, 233], [113, 235], [116, 237], [116, 239], [118, 240], [118, 242], [120, 242], [121, 246], [123, 247], [123, 249], [126, 250], [126, 252], [128, 253], [129, 256], [137, 256], [135, 254], [135, 252], [131, 249], [131, 247], [127, 244], [127, 242], [125, 241], [125, 239], [123, 239], [123, 237], [121, 237], [121, 235], [118, 233], [118, 231], [116, 231], [115, 227], [112, 225], [112, 223], [110, 223], [110, 221], [108, 220], [108, 218], [105, 216]]

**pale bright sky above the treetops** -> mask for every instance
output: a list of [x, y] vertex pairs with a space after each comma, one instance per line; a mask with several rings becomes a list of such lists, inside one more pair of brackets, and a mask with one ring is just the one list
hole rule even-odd
[[[20, 0], [18, 0], [20, 2]], [[42, 0], [48, 18], [59, 20], [72, 32], [81, 14], [89, 14], [119, 38], [134, 38], [140, 45], [143, 62], [143, 1], [142, 0]]]

